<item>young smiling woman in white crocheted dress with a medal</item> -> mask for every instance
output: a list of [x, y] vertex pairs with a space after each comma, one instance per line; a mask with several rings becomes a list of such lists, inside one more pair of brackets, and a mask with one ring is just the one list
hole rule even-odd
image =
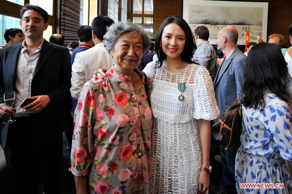
[[150, 62], [144, 69], [151, 80], [154, 117], [151, 191], [206, 193], [211, 169], [210, 120], [219, 116], [212, 79], [206, 68], [191, 60], [195, 40], [183, 18], [164, 20], [155, 49], [158, 62]]

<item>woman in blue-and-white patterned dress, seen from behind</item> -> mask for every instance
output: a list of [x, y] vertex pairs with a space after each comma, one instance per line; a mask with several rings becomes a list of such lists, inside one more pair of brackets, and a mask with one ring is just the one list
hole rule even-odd
[[[292, 123], [285, 59], [275, 44], [261, 43], [248, 54], [242, 99], [241, 146], [236, 155], [238, 194], [291, 194], [285, 160], [292, 161]], [[283, 189], [240, 188], [240, 183], [283, 183]]]

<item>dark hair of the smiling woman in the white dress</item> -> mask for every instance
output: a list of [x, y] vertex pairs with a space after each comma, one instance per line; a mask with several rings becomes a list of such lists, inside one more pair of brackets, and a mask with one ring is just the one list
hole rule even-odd
[[194, 49], [195, 49], [196, 44], [195, 44], [195, 38], [192, 33], [192, 30], [190, 29], [189, 25], [186, 23], [186, 21], [183, 18], [179, 16], [172, 16], [164, 20], [164, 22], [161, 24], [156, 34], [154, 47], [155, 47], [156, 54], [158, 56], [159, 67], [162, 66], [164, 60], [166, 59], [166, 54], [164, 53], [164, 51], [162, 50], [162, 47], [160, 46], [162, 33], [164, 30], [164, 27], [171, 23], [178, 24], [183, 29], [183, 32], [185, 33], [185, 36], [186, 36], [183, 52], [181, 53], [182, 60], [187, 63], [193, 63], [192, 57], [194, 55]]

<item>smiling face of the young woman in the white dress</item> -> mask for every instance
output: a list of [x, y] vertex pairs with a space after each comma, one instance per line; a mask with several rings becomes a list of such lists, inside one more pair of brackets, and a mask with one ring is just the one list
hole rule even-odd
[[185, 33], [183, 29], [176, 23], [166, 25], [162, 32], [161, 38], [162, 50], [167, 57], [181, 57], [185, 45]]

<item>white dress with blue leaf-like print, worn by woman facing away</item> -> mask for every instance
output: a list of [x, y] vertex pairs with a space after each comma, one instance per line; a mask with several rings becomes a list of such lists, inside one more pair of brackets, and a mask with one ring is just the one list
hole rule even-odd
[[[264, 109], [242, 106], [241, 146], [236, 155], [238, 194], [291, 194], [285, 160], [292, 161], [289, 105], [268, 91]], [[240, 183], [284, 183], [284, 189], [240, 189]]]

